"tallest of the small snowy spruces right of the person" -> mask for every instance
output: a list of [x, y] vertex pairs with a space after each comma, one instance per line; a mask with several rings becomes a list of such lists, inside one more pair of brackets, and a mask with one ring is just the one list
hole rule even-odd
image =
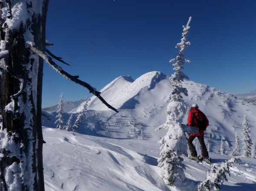
[[251, 156], [251, 149], [252, 149], [252, 139], [251, 139], [251, 132], [249, 129], [248, 121], [246, 118], [246, 115], [243, 117], [243, 139], [242, 139], [242, 145], [243, 145], [243, 156], [250, 157]]

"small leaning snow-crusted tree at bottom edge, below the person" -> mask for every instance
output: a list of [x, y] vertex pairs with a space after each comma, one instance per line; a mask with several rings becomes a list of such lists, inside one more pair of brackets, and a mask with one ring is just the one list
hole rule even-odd
[[230, 176], [230, 163], [222, 162], [220, 167], [213, 166], [210, 172], [207, 172], [206, 180], [198, 185], [198, 191], [221, 191], [220, 185], [223, 184], [224, 180], [227, 181], [226, 174]]

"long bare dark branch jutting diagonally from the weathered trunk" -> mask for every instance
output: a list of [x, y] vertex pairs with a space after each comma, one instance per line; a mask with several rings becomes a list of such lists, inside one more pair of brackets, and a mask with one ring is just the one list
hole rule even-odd
[[35, 48], [35, 47], [30, 47], [30, 50], [33, 51], [34, 53], [36, 53], [37, 55], [39, 55], [40, 57], [42, 57], [44, 60], [46, 60], [46, 62], [48, 64], [50, 64], [50, 66], [52, 66], [59, 74], [61, 74], [62, 76], [66, 77], [68, 80], [71, 80], [81, 86], [84, 86], [85, 88], [89, 89], [90, 93], [93, 93], [96, 97], [98, 97], [98, 99], [100, 99], [102, 101], [102, 103], [104, 103], [108, 108], [112, 109], [113, 111], [117, 112], [117, 109], [115, 109], [114, 107], [112, 107], [111, 105], [109, 105], [105, 99], [102, 98], [102, 96], [100, 96], [101, 92], [98, 92], [95, 88], [93, 88], [91, 85], [89, 85], [86, 82], [83, 82], [82, 80], [79, 80], [78, 77], [79, 76], [72, 76], [69, 73], [67, 73], [66, 71], [62, 70], [61, 67], [59, 67], [53, 60], [51, 57], [47, 56], [43, 51], [40, 51], [39, 49]]

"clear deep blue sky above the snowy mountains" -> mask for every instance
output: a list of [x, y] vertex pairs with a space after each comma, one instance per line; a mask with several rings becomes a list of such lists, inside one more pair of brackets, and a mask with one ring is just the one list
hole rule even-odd
[[[71, 3], [75, 2], [75, 3]], [[62, 66], [98, 91], [118, 76], [174, 72], [182, 25], [189, 16], [190, 80], [241, 94], [256, 89], [255, 0], [50, 0], [48, 49], [71, 66]], [[42, 107], [92, 96], [44, 65]]]

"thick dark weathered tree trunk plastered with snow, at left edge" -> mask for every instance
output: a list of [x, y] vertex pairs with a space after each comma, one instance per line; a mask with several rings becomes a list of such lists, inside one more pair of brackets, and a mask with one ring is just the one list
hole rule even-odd
[[[48, 1], [0, 1], [1, 190], [44, 190], [43, 59], [29, 47], [45, 51]], [[13, 24], [11, 8], [18, 4], [27, 13], [26, 20]]]

